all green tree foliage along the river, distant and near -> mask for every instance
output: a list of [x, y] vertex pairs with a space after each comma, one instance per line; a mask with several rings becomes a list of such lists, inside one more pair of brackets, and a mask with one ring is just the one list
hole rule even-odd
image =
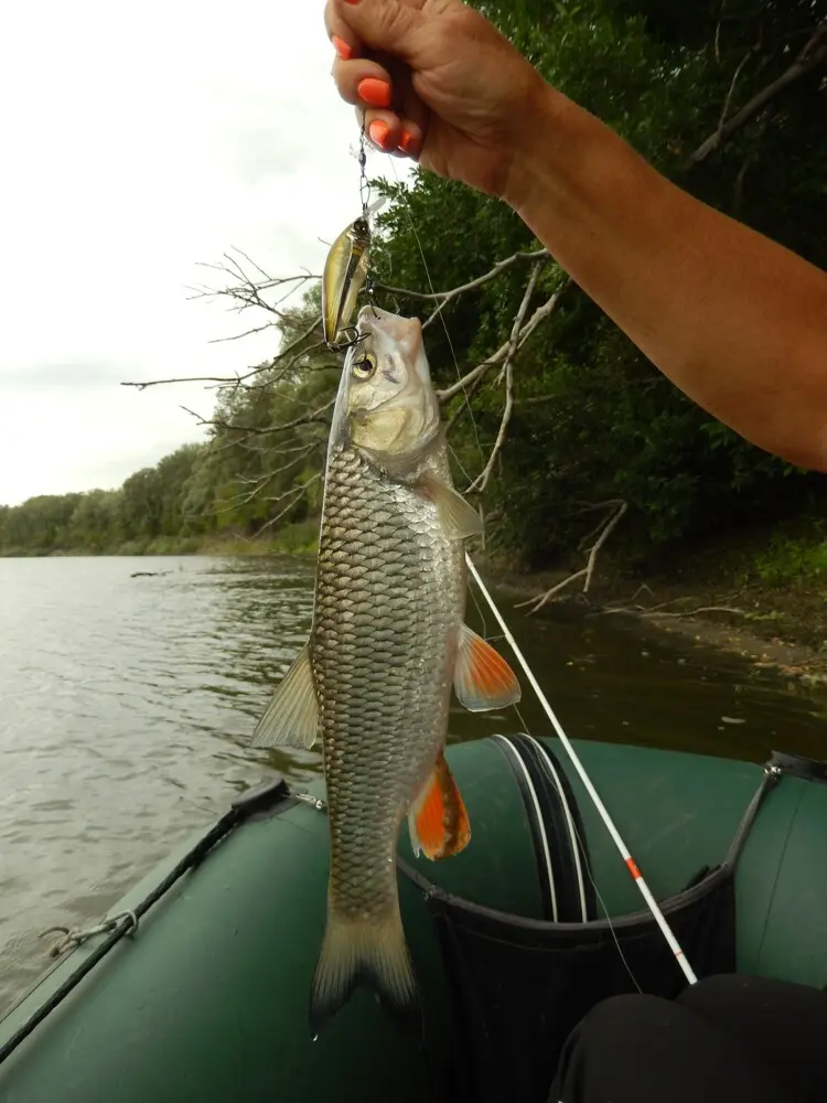
[[[827, 267], [827, 236], [818, 232], [827, 225], [824, 66], [771, 98], [729, 141], [688, 167], [690, 154], [717, 130], [724, 103], [733, 114], [790, 66], [827, 18], [827, 0], [477, 6], [548, 81], [662, 172]], [[355, 179], [353, 185], [355, 197]], [[393, 202], [380, 216], [372, 259], [377, 299], [388, 309], [425, 319], [432, 304], [388, 288], [422, 292], [429, 281], [439, 290], [458, 287], [514, 253], [538, 247], [503, 203], [460, 184], [418, 172], [409, 190], [382, 188]], [[450, 386], [508, 340], [529, 274], [525, 261], [507, 268], [454, 299], [427, 330], [438, 386]], [[565, 274], [547, 264], [528, 317], [563, 283]], [[302, 336], [319, 307], [315, 288], [300, 307], [268, 314], [269, 322], [277, 319], [282, 351], [292, 347], [293, 354], [219, 393], [205, 443], [137, 472], [117, 492], [0, 508], [0, 550], [148, 550], [173, 538], [278, 539], [297, 525], [290, 539], [312, 546], [325, 406], [340, 364], [320, 346], [318, 333]], [[496, 368], [474, 388], [472, 404], [473, 418], [462, 395], [445, 408], [460, 489], [481, 472], [497, 437], [504, 386]], [[689, 401], [583, 292], [567, 287], [554, 317], [515, 361], [506, 446], [484, 492], [486, 547], [545, 566], [588, 537], [600, 516], [589, 505], [623, 499], [630, 510], [614, 546], [638, 559], [663, 556], [676, 540], [702, 542], [727, 526], [790, 516], [805, 501], [824, 512], [823, 493], [820, 481], [748, 445]], [[796, 559], [791, 548], [771, 548], [756, 569], [767, 580], [812, 572], [818, 555]]]

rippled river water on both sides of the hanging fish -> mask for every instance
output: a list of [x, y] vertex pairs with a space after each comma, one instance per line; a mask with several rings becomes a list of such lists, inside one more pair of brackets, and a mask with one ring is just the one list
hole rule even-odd
[[[100, 919], [262, 775], [319, 771], [315, 751], [248, 746], [304, 641], [312, 582], [312, 561], [290, 556], [0, 559], [0, 1010], [49, 964], [39, 931]], [[572, 737], [827, 758], [825, 697], [688, 641], [513, 604]], [[530, 692], [520, 710], [547, 733]], [[513, 709], [458, 706], [451, 738], [519, 728]]]

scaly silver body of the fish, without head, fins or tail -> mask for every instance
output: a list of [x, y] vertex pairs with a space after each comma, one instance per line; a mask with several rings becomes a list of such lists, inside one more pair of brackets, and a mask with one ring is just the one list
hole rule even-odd
[[464, 600], [462, 543], [447, 539], [433, 503], [355, 449], [333, 452], [311, 662], [340, 915], [397, 908], [399, 825], [444, 739]]

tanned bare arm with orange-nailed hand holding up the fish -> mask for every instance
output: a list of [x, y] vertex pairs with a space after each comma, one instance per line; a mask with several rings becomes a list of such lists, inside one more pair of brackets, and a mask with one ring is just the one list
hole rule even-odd
[[461, 0], [327, 0], [325, 20], [380, 149], [504, 199], [690, 398], [827, 471], [827, 274], [676, 188]]

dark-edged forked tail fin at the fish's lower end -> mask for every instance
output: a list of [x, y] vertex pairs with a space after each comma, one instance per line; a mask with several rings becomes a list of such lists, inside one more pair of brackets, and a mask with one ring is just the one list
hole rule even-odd
[[421, 1030], [419, 989], [398, 909], [377, 920], [352, 920], [331, 909], [310, 995], [313, 1035], [340, 1011], [359, 985], [411, 1031]]

